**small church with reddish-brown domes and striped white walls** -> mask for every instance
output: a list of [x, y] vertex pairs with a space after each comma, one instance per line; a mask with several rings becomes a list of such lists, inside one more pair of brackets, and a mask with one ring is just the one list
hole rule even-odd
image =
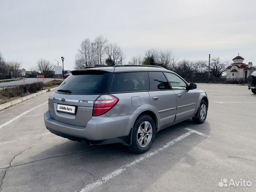
[[245, 78], [247, 79], [253, 71], [256, 70], [256, 66], [249, 62], [248, 65], [243, 63], [244, 58], [239, 54], [233, 60], [233, 63], [226, 68], [226, 78]]

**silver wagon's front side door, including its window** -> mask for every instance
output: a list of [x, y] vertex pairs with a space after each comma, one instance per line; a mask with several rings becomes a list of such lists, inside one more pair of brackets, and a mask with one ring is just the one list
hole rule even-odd
[[170, 82], [177, 99], [177, 111], [175, 121], [196, 113], [196, 93], [187, 89], [187, 84], [179, 76], [173, 73], [164, 73]]

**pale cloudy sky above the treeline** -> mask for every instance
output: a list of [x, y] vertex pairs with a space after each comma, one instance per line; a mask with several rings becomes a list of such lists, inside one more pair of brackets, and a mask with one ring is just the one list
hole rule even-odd
[[240, 53], [256, 64], [255, 8], [255, 0], [1, 0], [0, 52], [27, 70], [63, 55], [70, 70], [81, 41], [103, 35], [126, 62], [155, 48], [191, 60]]

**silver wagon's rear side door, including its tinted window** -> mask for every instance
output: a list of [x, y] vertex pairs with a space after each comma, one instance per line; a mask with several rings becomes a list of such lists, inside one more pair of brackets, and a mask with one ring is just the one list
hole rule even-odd
[[176, 94], [162, 72], [152, 71], [149, 74], [150, 104], [157, 110], [160, 126], [171, 123], [176, 115]]

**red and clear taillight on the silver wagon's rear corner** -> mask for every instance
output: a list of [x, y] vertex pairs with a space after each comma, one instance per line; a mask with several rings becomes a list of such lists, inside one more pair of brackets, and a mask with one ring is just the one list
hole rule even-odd
[[119, 99], [113, 95], [100, 95], [94, 102], [92, 115], [102, 115], [113, 108]]

